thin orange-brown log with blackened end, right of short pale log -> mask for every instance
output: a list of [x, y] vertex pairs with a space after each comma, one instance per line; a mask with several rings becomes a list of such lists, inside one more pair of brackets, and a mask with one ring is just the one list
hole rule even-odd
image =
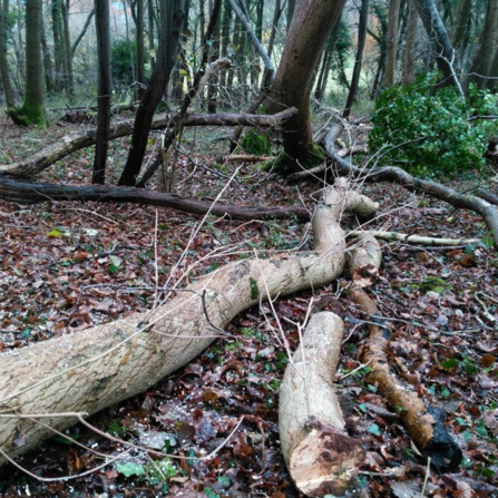
[[420, 451], [431, 458], [433, 466], [441, 470], [457, 469], [462, 459], [461, 449], [446, 429], [441, 410], [427, 406], [416, 391], [402, 384], [390, 371], [387, 354], [390, 325], [363, 290], [353, 289], [352, 297], [368, 320], [370, 331], [359, 355], [359, 361], [371, 368], [367, 381], [375, 385], [398, 411], [411, 439]]

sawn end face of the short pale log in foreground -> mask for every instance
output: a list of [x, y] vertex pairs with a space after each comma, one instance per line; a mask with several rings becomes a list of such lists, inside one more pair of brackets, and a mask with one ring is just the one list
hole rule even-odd
[[294, 449], [289, 467], [304, 495], [343, 495], [354, 487], [364, 458], [365, 451], [358, 440], [332, 427], [322, 427], [312, 429]]

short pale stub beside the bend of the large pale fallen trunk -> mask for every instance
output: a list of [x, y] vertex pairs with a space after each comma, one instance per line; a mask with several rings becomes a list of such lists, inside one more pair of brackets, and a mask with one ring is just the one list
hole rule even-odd
[[351, 280], [359, 287], [373, 285], [379, 276], [382, 252], [371, 234], [361, 234], [349, 253]]

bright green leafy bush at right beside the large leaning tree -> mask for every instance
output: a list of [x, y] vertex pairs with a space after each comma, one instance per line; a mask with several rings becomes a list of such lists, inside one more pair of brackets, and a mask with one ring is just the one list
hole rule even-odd
[[369, 137], [378, 162], [400, 163], [409, 173], [434, 177], [455, 176], [485, 164], [482, 123], [469, 116], [496, 114], [489, 92], [471, 89], [467, 101], [455, 88], [434, 95], [437, 75], [426, 75], [413, 85], [388, 89], [379, 97]]

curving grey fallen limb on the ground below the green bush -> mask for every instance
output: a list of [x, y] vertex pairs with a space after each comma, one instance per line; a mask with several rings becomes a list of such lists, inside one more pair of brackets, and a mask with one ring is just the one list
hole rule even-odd
[[325, 150], [335, 162], [335, 169], [338, 173], [341, 173], [342, 175], [353, 175], [357, 178], [368, 182], [398, 182], [404, 188], [424, 192], [432, 197], [445, 201], [453, 207], [462, 207], [465, 209], [473, 211], [482, 216], [494, 240], [495, 247], [498, 248], [498, 207], [475, 195], [460, 194], [437, 182], [417, 178], [404, 169], [394, 166], [372, 169], [358, 168], [344, 160], [335, 152], [334, 141], [341, 130], [341, 125], [334, 125], [324, 138]]

